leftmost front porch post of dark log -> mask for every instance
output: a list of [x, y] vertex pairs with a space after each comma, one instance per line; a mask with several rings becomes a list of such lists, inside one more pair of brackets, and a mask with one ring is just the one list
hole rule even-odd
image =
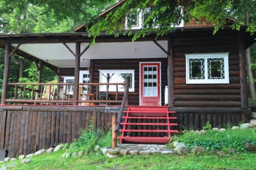
[[10, 69], [10, 59], [11, 59], [11, 56], [9, 56], [10, 51], [11, 51], [11, 44], [6, 44], [4, 68], [3, 68], [3, 87], [2, 87], [1, 104], [6, 104], [7, 83], [9, 80], [9, 69]]

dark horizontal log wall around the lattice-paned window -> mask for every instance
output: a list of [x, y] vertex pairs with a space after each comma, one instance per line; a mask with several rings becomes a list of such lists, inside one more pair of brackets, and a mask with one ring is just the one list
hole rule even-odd
[[[229, 84], [186, 84], [185, 54], [221, 52], [229, 52]], [[214, 36], [211, 31], [177, 34], [174, 37], [175, 107], [241, 107], [238, 54], [238, 36], [231, 31], [218, 31]]]

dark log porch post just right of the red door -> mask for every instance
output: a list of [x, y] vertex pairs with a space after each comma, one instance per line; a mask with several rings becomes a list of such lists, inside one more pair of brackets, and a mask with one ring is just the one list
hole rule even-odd
[[173, 37], [170, 37], [168, 40], [167, 46], [169, 55], [168, 59], [168, 105], [170, 107], [175, 107], [174, 103], [174, 45], [173, 45]]

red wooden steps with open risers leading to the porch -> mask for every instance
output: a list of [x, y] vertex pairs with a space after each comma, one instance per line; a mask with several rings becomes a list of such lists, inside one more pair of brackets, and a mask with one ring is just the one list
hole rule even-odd
[[[177, 126], [177, 123], [170, 123], [171, 120], [177, 119], [177, 117], [169, 117], [169, 114], [176, 113], [175, 111], [168, 111], [168, 107], [129, 107], [127, 111], [124, 111], [126, 116], [122, 116], [125, 119], [124, 122], [121, 123], [123, 125], [123, 129], [119, 130], [122, 132], [122, 136], [118, 136], [117, 138], [120, 139], [120, 144], [122, 142], [136, 142], [136, 143], [169, 143], [171, 139], [171, 133], [178, 133], [178, 130], [173, 130], [170, 127]], [[153, 116], [153, 117], [152, 117]], [[133, 122], [133, 119], [140, 120], [140, 122]], [[159, 120], [158, 122], [152, 122], [153, 119]], [[163, 122], [160, 122], [164, 120]], [[142, 121], [143, 120], [143, 121]], [[148, 120], [151, 122], [147, 123]], [[128, 129], [128, 125], [133, 127], [133, 129]], [[142, 129], [142, 127], [152, 126], [156, 129]], [[161, 129], [160, 129], [161, 127]], [[125, 136], [125, 133], [140, 133], [139, 136]], [[141, 133], [150, 134], [150, 136], [142, 136]], [[152, 134], [160, 134], [160, 133], [167, 133], [168, 136], [159, 137], [154, 136]]]

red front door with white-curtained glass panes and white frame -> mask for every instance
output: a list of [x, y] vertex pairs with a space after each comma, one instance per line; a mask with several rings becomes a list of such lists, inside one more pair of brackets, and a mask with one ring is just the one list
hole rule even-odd
[[140, 63], [140, 105], [160, 106], [160, 62]]

